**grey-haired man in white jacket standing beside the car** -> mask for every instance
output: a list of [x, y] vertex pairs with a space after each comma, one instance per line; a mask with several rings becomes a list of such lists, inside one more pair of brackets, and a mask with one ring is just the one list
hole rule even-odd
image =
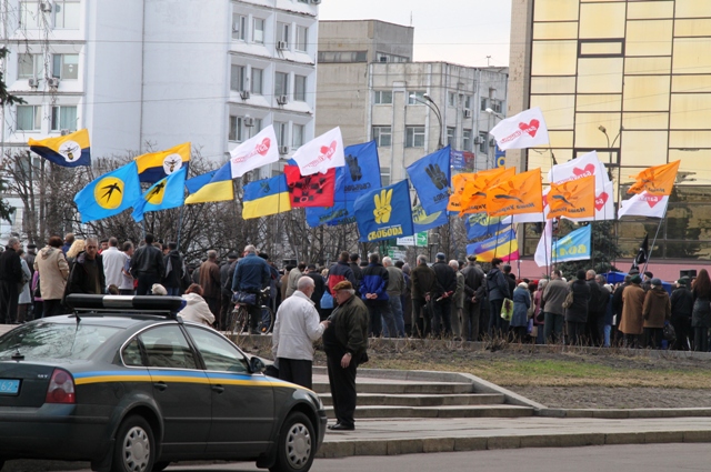
[[321, 338], [329, 321], [319, 323], [319, 312], [311, 301], [313, 279], [302, 277], [297, 291], [277, 311], [272, 333], [272, 354], [279, 361], [279, 379], [311, 389], [313, 341]]

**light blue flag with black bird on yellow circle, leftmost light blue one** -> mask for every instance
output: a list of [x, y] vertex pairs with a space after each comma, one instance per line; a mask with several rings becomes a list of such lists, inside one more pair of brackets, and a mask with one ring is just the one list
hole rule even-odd
[[74, 197], [81, 222], [101, 220], [133, 207], [141, 197], [136, 162], [106, 173], [84, 187]]

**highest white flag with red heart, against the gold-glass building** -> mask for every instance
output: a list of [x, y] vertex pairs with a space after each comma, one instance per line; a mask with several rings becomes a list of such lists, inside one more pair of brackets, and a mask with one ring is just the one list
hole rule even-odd
[[548, 128], [543, 112], [535, 107], [512, 118], [507, 118], [489, 131], [499, 143], [499, 149], [525, 149], [548, 144]]

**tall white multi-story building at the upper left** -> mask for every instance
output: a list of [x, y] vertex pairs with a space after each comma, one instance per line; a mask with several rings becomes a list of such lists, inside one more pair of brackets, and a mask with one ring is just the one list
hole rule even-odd
[[191, 141], [221, 162], [274, 124], [314, 132], [319, 0], [6, 0], [4, 149], [88, 128], [92, 155]]

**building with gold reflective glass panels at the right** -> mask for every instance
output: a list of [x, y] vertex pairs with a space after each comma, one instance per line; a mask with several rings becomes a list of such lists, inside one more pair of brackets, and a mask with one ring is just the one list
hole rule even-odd
[[[597, 150], [625, 199], [630, 175], [681, 160], [653, 258], [711, 254], [711, 1], [513, 0], [508, 114], [540, 107], [550, 149], [509, 152], [542, 168]], [[624, 219], [637, 252], [657, 219]], [[538, 235], [527, 233], [524, 254]], [[621, 267], [627, 267], [625, 264]]]

